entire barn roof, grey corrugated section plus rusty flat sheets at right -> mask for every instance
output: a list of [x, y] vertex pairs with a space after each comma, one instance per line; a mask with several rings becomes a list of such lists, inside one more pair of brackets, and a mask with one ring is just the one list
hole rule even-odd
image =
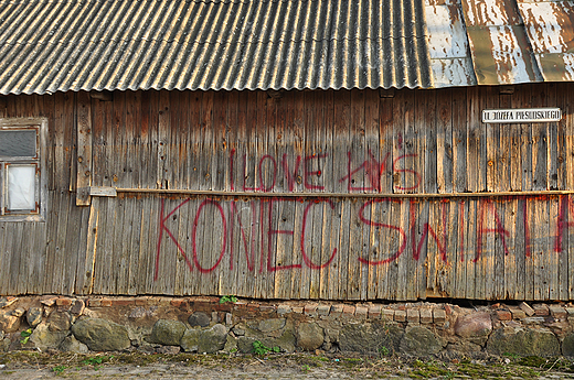
[[0, 94], [574, 80], [574, 2], [0, 0]]

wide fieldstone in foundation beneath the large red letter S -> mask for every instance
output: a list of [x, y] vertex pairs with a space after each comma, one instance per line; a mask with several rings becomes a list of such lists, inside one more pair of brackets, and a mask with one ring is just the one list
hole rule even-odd
[[349, 323], [339, 333], [341, 351], [379, 354], [384, 347], [394, 352], [403, 337], [403, 329], [384, 323]]

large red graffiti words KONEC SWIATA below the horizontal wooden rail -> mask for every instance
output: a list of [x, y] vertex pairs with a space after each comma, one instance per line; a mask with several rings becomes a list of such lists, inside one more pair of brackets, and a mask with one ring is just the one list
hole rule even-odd
[[[269, 160], [270, 162], [270, 159], [266, 158], [265, 160]], [[548, 199], [525, 196], [519, 196], [518, 198], [521, 199], [523, 204], [523, 231], [521, 234], [523, 234], [523, 241], [525, 245], [524, 254], [525, 257], [530, 257], [530, 240], [532, 231], [530, 230], [530, 225], [528, 222], [528, 205], [533, 204], [533, 202], [545, 202]], [[571, 227], [574, 227], [574, 221], [570, 221], [568, 219], [570, 215], [574, 213], [574, 204], [570, 202], [568, 196], [561, 196], [559, 198], [560, 209], [559, 216], [556, 218], [556, 235], [553, 242], [553, 249], [556, 252], [562, 252], [563, 237], [565, 231]], [[364, 200], [362, 204], [358, 205], [355, 211], [359, 220], [364, 226], [374, 227], [376, 229], [386, 229], [387, 234], [392, 236], [391, 239], [397, 241], [398, 248], [396, 248], [395, 251], [389, 252], [385, 258], [378, 259], [370, 258], [370, 248], [365, 248], [363, 252], [355, 258], [355, 260], [358, 260], [358, 262], [361, 264], [373, 267], [390, 263], [398, 260], [402, 253], [405, 251], [407, 245], [411, 245], [413, 251], [412, 260], [419, 261], [425, 253], [425, 245], [434, 241], [440, 259], [446, 262], [448, 241], [450, 241], [449, 239], [457, 239], [458, 258], [460, 262], [464, 262], [466, 249], [465, 231], [467, 228], [466, 214], [467, 207], [469, 207], [470, 204], [476, 204], [477, 207], [476, 250], [472, 252], [474, 258], [471, 261], [476, 263], [481, 258], [483, 253], [483, 239], [489, 234], [493, 234], [497, 239], [499, 239], [501, 249], [503, 250], [504, 254], [508, 256], [511, 251], [507, 242], [507, 239], [510, 238], [510, 232], [504, 228], [503, 220], [500, 218], [497, 205], [503, 202], [511, 202], [512, 199], [515, 199], [515, 197], [509, 197], [508, 199], [501, 199], [499, 202], [493, 202], [491, 199], [480, 199], [472, 202], [459, 200], [456, 204], [451, 204], [450, 199], [445, 199], [439, 204], [436, 204], [436, 207], [439, 207], [439, 215], [436, 217], [438, 220], [429, 220], [428, 217], [424, 217], [423, 215], [429, 215], [428, 211], [425, 213], [424, 208], [421, 210], [421, 214], [417, 215], [417, 208], [421, 205], [417, 200], [410, 200], [408, 203], [400, 198], [374, 198]], [[309, 228], [321, 228], [321, 234], [323, 234], [322, 225], [312, 226], [313, 218], [309, 217], [309, 213], [315, 210], [319, 211], [319, 222], [322, 224], [326, 218], [329, 217], [329, 215], [336, 215], [339, 213], [339, 207], [343, 207], [339, 205], [342, 205], [342, 203], [334, 203], [328, 198], [307, 199], [305, 202], [300, 198], [280, 197], [269, 197], [251, 202], [223, 202], [211, 198], [205, 198], [200, 202], [199, 199], [190, 198], [182, 200], [177, 206], [174, 206], [173, 209], [167, 211], [164, 207], [164, 199], [161, 199], [159, 215], [159, 239], [157, 243], [153, 278], [155, 280], [158, 279], [159, 265], [161, 262], [160, 254], [162, 252], [162, 243], [164, 240], [173, 242], [178, 254], [183, 257], [190, 271], [193, 271], [195, 268], [200, 273], [210, 273], [217, 268], [221, 268], [226, 253], [230, 256], [230, 270], [234, 270], [234, 265], [237, 260], [245, 260], [247, 270], [249, 272], [255, 271], [257, 260], [259, 261], [257, 265], [258, 272], [263, 272], [265, 270], [267, 272], [297, 270], [304, 268], [304, 265], [310, 270], [322, 270], [333, 263], [337, 254], [341, 252], [341, 249], [343, 252], [347, 252], [349, 247], [331, 248], [330, 252], [323, 252], [322, 254], [317, 254], [317, 252], [321, 249], [320, 247], [313, 247], [312, 251], [309, 251], [309, 243], [312, 241], [312, 239], [309, 238]], [[427, 207], [429, 203], [422, 205]], [[395, 206], [400, 206], [401, 214], [407, 213], [407, 220], [405, 220], [405, 225], [403, 226], [395, 226], [390, 221], [383, 221], [380, 219], [380, 216], [385, 215], [381, 213], [386, 213], [385, 207], [389, 208]], [[322, 209], [313, 209], [313, 207], [321, 207]], [[280, 220], [286, 221], [286, 217], [279, 215], [278, 213], [279, 209], [285, 208], [290, 209], [288, 214], [291, 218], [294, 218], [288, 222], [288, 226], [290, 227], [287, 229], [276, 227], [280, 225]], [[297, 209], [299, 209], [299, 211], [296, 211]], [[329, 210], [329, 213], [326, 213], [327, 210]], [[375, 213], [375, 210], [379, 213]], [[247, 211], [248, 218], [246, 218], [246, 215], [243, 214], [244, 211]], [[190, 220], [193, 220], [190, 242], [184, 241], [182, 243], [178, 241], [178, 237], [176, 236], [177, 234], [174, 235], [171, 230], [172, 227], [170, 227], [172, 220], [176, 220], [178, 214], [181, 213], [191, 214]], [[448, 215], [453, 215], [451, 213], [458, 215], [458, 228], [448, 229]], [[202, 218], [210, 220], [213, 226], [202, 226]], [[404, 218], [397, 220], [404, 220]], [[492, 224], [492, 226], [489, 226], [489, 222]], [[346, 221], [343, 220], [342, 226], [344, 226], [344, 224]], [[221, 249], [219, 248], [220, 246], [214, 249], [214, 251], [217, 253], [213, 254], [213, 258], [209, 258], [211, 260], [215, 260], [214, 262], [211, 261], [212, 263], [210, 264], [202, 262], [204, 257], [202, 257], [201, 252], [204, 251], [202, 247], [205, 246], [200, 247], [200, 245], [204, 245], [202, 236], [200, 235], [200, 227], [203, 227], [205, 228], [205, 231], [209, 231], [211, 243], [219, 243], [221, 246]], [[374, 229], [372, 229], [372, 231]], [[449, 230], [454, 232], [454, 236], [448, 236]], [[219, 235], [213, 235], [214, 231], [217, 231]], [[238, 236], [236, 234], [238, 234]], [[296, 236], [297, 241], [294, 241]], [[322, 236], [321, 238], [329, 238], [329, 235]], [[515, 243], [519, 243], [518, 237], [512, 238], [514, 239], [513, 241], [517, 241]], [[283, 259], [280, 262], [276, 262], [276, 259], [278, 258], [276, 256], [277, 249], [274, 248], [279, 246], [278, 239], [286, 239], [285, 242], [288, 242], [287, 247], [295, 248], [293, 251], [289, 248], [287, 252], [281, 252]], [[191, 243], [191, 247], [188, 248], [185, 243]], [[236, 252], [237, 247], [238, 251]], [[321, 247], [325, 249], [325, 247], [329, 247], [329, 245], [321, 245]], [[244, 251], [244, 256], [238, 254], [241, 253], [241, 250]], [[188, 254], [187, 251], [191, 251], [191, 256]], [[289, 254], [293, 256], [293, 261], [290, 263], [284, 263], [283, 260], [289, 260]], [[319, 259], [321, 257], [323, 258], [322, 260]]]

